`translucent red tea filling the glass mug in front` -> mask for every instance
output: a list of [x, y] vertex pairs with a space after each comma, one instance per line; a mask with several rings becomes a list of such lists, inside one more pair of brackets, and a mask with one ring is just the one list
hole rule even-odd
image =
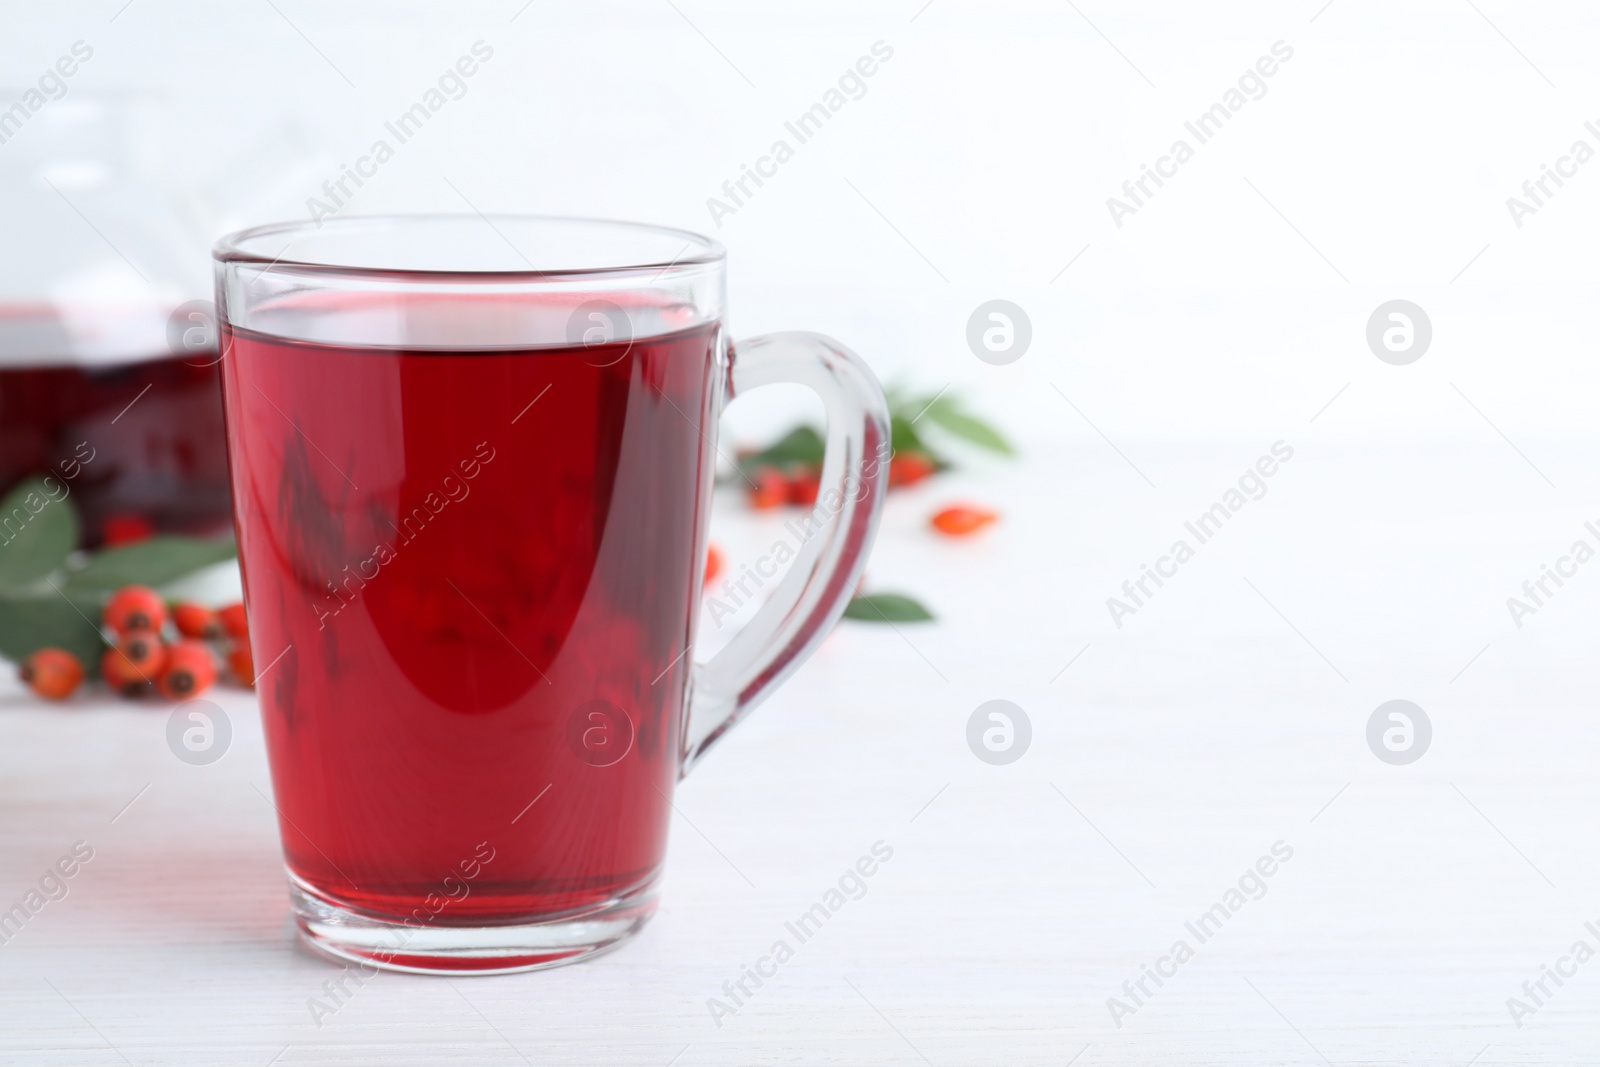
[[240, 558], [294, 878], [493, 925], [646, 886], [678, 777], [718, 333], [224, 338]]

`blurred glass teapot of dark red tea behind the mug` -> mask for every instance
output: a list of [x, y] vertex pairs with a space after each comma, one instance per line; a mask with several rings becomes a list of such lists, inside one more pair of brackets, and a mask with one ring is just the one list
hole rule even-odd
[[158, 118], [74, 91], [0, 144], [0, 493], [72, 470], [83, 547], [230, 522], [208, 242]]

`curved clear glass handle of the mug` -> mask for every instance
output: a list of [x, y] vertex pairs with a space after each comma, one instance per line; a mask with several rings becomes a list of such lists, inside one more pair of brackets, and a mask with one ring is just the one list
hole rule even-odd
[[734, 346], [728, 400], [778, 382], [806, 386], [822, 398], [822, 482], [811, 512], [786, 528], [795, 560], [771, 600], [726, 648], [694, 667], [683, 774], [827, 637], [850, 603], [883, 510], [890, 413], [861, 357], [814, 333], [771, 333]]

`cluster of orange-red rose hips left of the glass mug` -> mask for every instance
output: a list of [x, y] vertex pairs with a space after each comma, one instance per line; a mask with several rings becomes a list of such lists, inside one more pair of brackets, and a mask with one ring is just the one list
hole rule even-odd
[[[205, 693], [218, 678], [218, 659], [232, 677], [256, 683], [250, 657], [245, 605], [213, 611], [205, 605], [174, 603], [171, 611], [147, 585], [125, 585], [101, 616], [110, 648], [101, 657], [101, 677], [122, 696], [158, 691], [173, 701]], [[19, 677], [38, 696], [64, 701], [83, 681], [83, 664], [61, 648], [42, 648], [22, 661]]]

